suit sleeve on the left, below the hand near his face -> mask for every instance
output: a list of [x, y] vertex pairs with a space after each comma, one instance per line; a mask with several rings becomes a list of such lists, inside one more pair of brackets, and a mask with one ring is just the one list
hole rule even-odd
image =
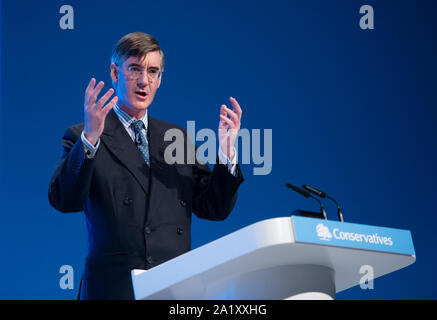
[[83, 211], [88, 200], [95, 159], [85, 156], [81, 131], [78, 127], [66, 130], [61, 158], [50, 180], [50, 204], [62, 212]]

